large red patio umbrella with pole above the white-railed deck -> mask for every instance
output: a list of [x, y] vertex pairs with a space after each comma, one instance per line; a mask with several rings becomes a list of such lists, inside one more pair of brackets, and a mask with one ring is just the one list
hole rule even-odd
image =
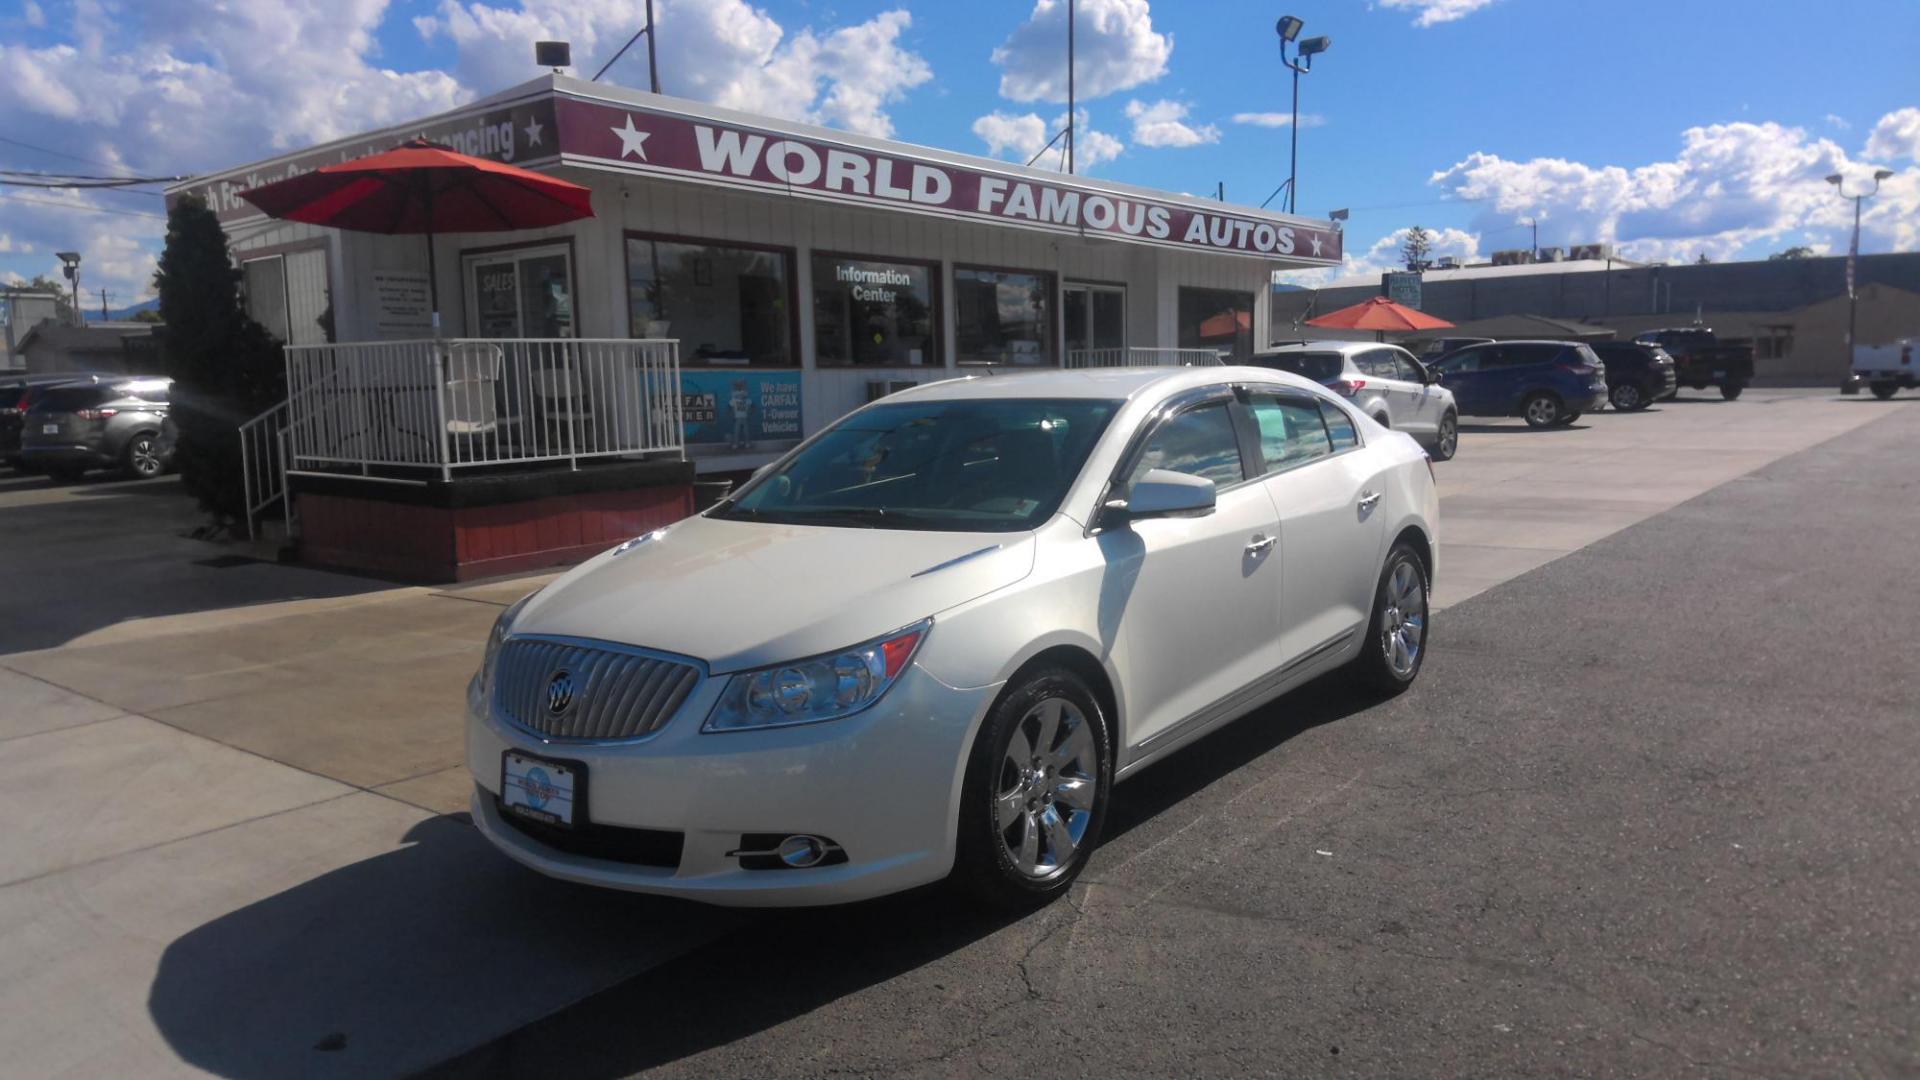
[[509, 233], [593, 217], [593, 192], [530, 169], [455, 154], [424, 138], [240, 192], [286, 221], [357, 233], [424, 233], [440, 332], [434, 233]]

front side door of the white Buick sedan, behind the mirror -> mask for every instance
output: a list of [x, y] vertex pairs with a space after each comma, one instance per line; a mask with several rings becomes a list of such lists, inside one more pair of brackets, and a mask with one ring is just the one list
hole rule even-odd
[[1131, 746], [1279, 665], [1279, 521], [1229, 409], [1223, 386], [1162, 417], [1116, 484], [1125, 498], [1148, 469], [1206, 477], [1217, 486], [1212, 513], [1129, 521], [1098, 536], [1108, 563], [1100, 630], [1127, 673]]

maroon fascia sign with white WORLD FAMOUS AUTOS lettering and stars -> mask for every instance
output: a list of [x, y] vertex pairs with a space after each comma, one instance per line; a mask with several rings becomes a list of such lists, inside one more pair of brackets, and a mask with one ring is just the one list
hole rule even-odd
[[1185, 204], [1068, 177], [991, 173], [948, 160], [566, 96], [555, 100], [555, 125], [564, 160], [620, 171], [1167, 248], [1340, 261], [1340, 233], [1325, 223], [1233, 211], [1202, 200]]

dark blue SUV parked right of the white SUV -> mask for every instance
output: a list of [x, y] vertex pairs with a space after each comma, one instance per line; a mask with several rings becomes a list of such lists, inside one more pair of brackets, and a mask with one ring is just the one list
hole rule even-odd
[[1607, 405], [1607, 365], [1578, 342], [1488, 342], [1434, 361], [1463, 417], [1569, 425]]

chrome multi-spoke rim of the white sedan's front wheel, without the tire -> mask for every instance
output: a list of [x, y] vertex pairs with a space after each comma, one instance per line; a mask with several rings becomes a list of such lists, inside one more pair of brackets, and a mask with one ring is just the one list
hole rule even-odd
[[1087, 715], [1066, 698], [1027, 709], [993, 788], [993, 824], [1014, 869], [1046, 878], [1071, 865], [1098, 788], [1100, 748]]

